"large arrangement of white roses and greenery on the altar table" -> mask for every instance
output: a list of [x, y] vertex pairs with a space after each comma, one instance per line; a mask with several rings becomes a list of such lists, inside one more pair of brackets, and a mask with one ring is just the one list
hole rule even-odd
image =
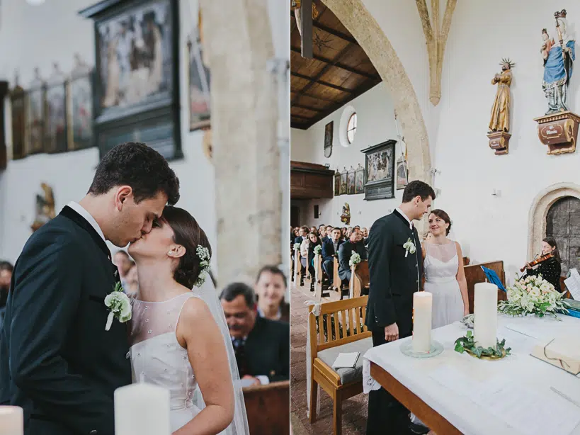
[[508, 300], [498, 303], [498, 311], [512, 316], [537, 315], [544, 317], [557, 312], [567, 313], [569, 305], [562, 300], [552, 284], [542, 276], [526, 276], [508, 287]]

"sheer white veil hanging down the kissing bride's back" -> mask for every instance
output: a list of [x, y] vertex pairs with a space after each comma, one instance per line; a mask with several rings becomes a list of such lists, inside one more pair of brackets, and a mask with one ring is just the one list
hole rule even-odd
[[[241, 381], [239, 379], [234, 346], [232, 345], [232, 338], [229, 335], [229, 329], [225, 320], [224, 311], [222, 310], [220, 298], [217, 295], [217, 290], [213, 286], [212, 280], [206, 279], [203, 286], [194, 287], [192, 291], [198, 295], [208, 307], [210, 307], [215, 322], [217, 322], [217, 326], [220, 327], [227, 351], [229, 371], [232, 373], [232, 380], [234, 382], [234, 399], [236, 401], [234, 420], [229, 426], [227, 426], [227, 429], [220, 432], [220, 435], [249, 435], [250, 431], [248, 428], [248, 417], [246, 416], [246, 405], [244, 404], [244, 392], [241, 390]], [[195, 390], [193, 401], [200, 409], [205, 408], [205, 402], [203, 402], [203, 396], [199, 388]]]

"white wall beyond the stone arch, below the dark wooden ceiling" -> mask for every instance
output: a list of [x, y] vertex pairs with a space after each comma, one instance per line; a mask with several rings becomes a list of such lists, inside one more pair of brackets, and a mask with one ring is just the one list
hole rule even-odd
[[[341, 115], [346, 106], [352, 106], [357, 114], [357, 129], [353, 143], [343, 147], [339, 141]], [[358, 96], [346, 106], [327, 116], [308, 130], [292, 128], [290, 142], [292, 160], [329, 164], [330, 169], [343, 171], [356, 169], [360, 163], [365, 166], [365, 154], [362, 149], [377, 145], [389, 139], [397, 140], [397, 127], [394, 123], [394, 108], [384, 84], [378, 84], [365, 94]], [[334, 121], [332, 154], [324, 157], [324, 126]], [[397, 157], [401, 153], [399, 144], [395, 145]], [[395, 190], [395, 198], [366, 201], [364, 193], [341, 195], [332, 199], [295, 201], [301, 205], [302, 225], [338, 225], [344, 226], [340, 214], [344, 203], [351, 208], [351, 225], [370, 227], [373, 222], [399, 205], [403, 191]], [[319, 218], [314, 218], [314, 205], [319, 206]]]

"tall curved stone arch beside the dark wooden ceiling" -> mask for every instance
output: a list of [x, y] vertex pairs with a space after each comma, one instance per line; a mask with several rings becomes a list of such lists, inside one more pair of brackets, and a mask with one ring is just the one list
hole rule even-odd
[[411, 79], [363, 0], [322, 0], [365, 50], [393, 98], [407, 146], [409, 179], [431, 183], [427, 128]]

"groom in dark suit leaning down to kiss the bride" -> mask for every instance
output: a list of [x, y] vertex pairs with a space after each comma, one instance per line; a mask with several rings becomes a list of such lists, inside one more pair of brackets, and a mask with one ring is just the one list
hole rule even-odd
[[114, 435], [113, 392], [131, 383], [127, 324], [105, 325], [119, 281], [106, 244], [151, 231], [179, 181], [142, 143], [118, 145], [87, 195], [26, 242], [0, 332], [0, 405], [24, 409], [25, 435]]

